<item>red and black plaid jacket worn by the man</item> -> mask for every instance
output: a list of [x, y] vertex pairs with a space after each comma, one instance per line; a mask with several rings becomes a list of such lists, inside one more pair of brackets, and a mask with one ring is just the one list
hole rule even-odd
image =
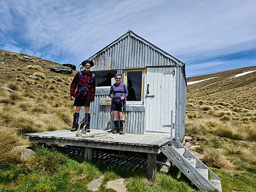
[[70, 96], [79, 99], [91, 99], [94, 101], [96, 78], [94, 76], [92, 81], [92, 72], [86, 73], [85, 70], [81, 72], [82, 75], [79, 80], [79, 72], [75, 74], [75, 77], [70, 86]]

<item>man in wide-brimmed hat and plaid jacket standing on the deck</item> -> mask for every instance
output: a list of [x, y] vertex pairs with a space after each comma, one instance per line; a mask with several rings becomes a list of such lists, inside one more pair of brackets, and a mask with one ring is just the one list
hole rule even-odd
[[96, 79], [90, 70], [94, 63], [90, 60], [83, 61], [81, 65], [85, 70], [76, 73], [71, 86], [70, 97], [74, 101], [75, 113], [73, 115], [73, 125], [70, 131], [78, 130], [79, 112], [81, 106], [85, 107], [85, 131], [90, 132], [90, 104], [94, 101]]

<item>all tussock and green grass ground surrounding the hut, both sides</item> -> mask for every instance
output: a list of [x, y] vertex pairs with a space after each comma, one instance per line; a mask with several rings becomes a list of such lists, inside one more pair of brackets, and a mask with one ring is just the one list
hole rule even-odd
[[[13, 149], [32, 145], [23, 133], [69, 129], [74, 112], [69, 98], [73, 74], [50, 71], [60, 65], [38, 57], [0, 50], [0, 189], [2, 191], [90, 191], [86, 185], [104, 175], [99, 191], [112, 179], [126, 179], [127, 191], [195, 191], [193, 185], [158, 172], [156, 183], [147, 182], [145, 170], [114, 164], [77, 163], [55, 151], [36, 148], [27, 160]], [[256, 70], [241, 68], [189, 77], [186, 147], [211, 167], [224, 191], [256, 191]], [[31, 75], [37, 76], [35, 79]], [[30, 76], [30, 77], [29, 77]], [[13, 92], [7, 91], [8, 87]]]

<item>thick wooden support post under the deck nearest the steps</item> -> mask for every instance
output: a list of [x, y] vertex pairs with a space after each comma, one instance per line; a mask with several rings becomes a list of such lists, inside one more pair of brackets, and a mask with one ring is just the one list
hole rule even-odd
[[157, 178], [157, 154], [147, 153], [147, 180], [156, 181]]

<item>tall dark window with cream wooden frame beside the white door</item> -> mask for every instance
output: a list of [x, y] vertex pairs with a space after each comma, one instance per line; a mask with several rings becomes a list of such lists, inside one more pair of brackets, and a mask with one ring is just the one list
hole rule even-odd
[[127, 104], [142, 104], [143, 69], [126, 70]]

